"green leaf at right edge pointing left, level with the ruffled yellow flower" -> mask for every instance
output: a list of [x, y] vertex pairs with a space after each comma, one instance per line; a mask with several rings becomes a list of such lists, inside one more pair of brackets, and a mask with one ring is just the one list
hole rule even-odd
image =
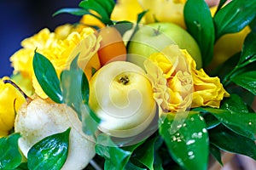
[[252, 94], [256, 95], [256, 71], [247, 71], [239, 74], [236, 77], [231, 77], [230, 80], [238, 86], [247, 89]]

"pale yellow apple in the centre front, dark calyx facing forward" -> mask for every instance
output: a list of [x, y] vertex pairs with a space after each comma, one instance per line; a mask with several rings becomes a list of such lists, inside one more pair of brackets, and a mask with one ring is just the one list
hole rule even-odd
[[145, 72], [127, 61], [113, 61], [96, 71], [90, 80], [89, 105], [102, 119], [99, 129], [117, 138], [142, 133], [156, 112]]

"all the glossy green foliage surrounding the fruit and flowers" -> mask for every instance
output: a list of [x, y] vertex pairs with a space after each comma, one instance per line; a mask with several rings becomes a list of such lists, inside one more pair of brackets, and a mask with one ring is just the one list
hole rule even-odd
[[[184, 7], [184, 18], [189, 33], [201, 48], [204, 68], [211, 62], [214, 43], [220, 37], [241, 31], [245, 26], [252, 27], [241, 53], [225, 62], [225, 69], [220, 66], [217, 71], [214, 71], [214, 75], [221, 78], [224, 88], [230, 92], [230, 98], [224, 99], [219, 109], [195, 108], [189, 111], [188, 116], [181, 122], [177, 122], [176, 116], [172, 114], [164, 118], [160, 117], [159, 130], [131, 146], [119, 146], [108, 135], [102, 134], [97, 138], [94, 136], [98, 142], [96, 154], [105, 160], [104, 168], [207, 169], [209, 154], [222, 163], [221, 150], [250, 156], [256, 160], [256, 113], [250, 107], [252, 101], [245, 100], [247, 94], [248, 96], [256, 94], [256, 32], [254, 29], [256, 3], [254, 0], [233, 0], [224, 5], [225, 2], [220, 1], [217, 13], [212, 17], [205, 1], [188, 0]], [[113, 0], [84, 0], [79, 3], [79, 8], [63, 8], [55, 14], [90, 14], [106, 25], [118, 25], [110, 20], [113, 7]], [[141, 19], [142, 17], [139, 16], [138, 20]], [[101, 120], [88, 105], [89, 83], [84, 72], [77, 65], [77, 59], [73, 59], [70, 68], [63, 71], [59, 78], [50, 61], [44, 55], [35, 52], [33, 69], [45, 94], [56, 103], [71, 106], [83, 122], [84, 133], [94, 135]], [[241, 94], [241, 92], [244, 93]], [[176, 131], [172, 131], [172, 128]], [[61, 163], [55, 164], [56, 160], [47, 160], [43, 156], [44, 152], [39, 151], [39, 148], [46, 147], [52, 140], [61, 142], [67, 148], [67, 136], [68, 131], [49, 136], [35, 144], [29, 152], [27, 166], [34, 168], [36, 162], [40, 161], [43, 163], [40, 164], [41, 167], [55, 165], [56, 169], [60, 168], [67, 156], [66, 151], [58, 155], [61, 156]], [[14, 133], [8, 138], [0, 139], [1, 168], [23, 169], [22, 167], [26, 167], [26, 164], [20, 164], [21, 155], [17, 146], [19, 138], [20, 135]], [[102, 145], [102, 141], [107, 144]], [[48, 147], [44, 151], [48, 156], [55, 154], [54, 150], [51, 150], [52, 152], [50, 150], [51, 148]]]

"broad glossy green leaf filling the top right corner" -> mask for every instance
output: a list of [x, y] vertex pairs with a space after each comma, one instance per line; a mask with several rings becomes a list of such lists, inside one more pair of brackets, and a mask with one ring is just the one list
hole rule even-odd
[[256, 3], [246, 0], [234, 0], [220, 8], [213, 18], [216, 41], [224, 34], [241, 31], [253, 20], [255, 11]]

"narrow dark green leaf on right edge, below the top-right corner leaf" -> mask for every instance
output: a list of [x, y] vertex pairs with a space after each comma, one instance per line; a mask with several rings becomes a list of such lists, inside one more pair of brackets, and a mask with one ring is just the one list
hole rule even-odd
[[238, 64], [244, 63], [248, 61], [247, 63], [252, 63], [256, 60], [256, 33], [251, 32], [247, 35], [243, 47], [241, 50], [241, 58], [239, 60]]

